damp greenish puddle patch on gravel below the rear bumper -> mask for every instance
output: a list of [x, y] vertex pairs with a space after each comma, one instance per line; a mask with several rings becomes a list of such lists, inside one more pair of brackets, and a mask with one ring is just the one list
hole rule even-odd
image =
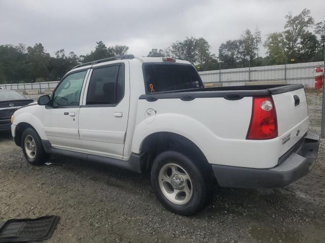
[[250, 235], [257, 239], [258, 242], [283, 242], [283, 243], [297, 243], [302, 242], [302, 237], [298, 232], [289, 231], [286, 229], [277, 229], [273, 227], [265, 227], [253, 225], [249, 230]]

